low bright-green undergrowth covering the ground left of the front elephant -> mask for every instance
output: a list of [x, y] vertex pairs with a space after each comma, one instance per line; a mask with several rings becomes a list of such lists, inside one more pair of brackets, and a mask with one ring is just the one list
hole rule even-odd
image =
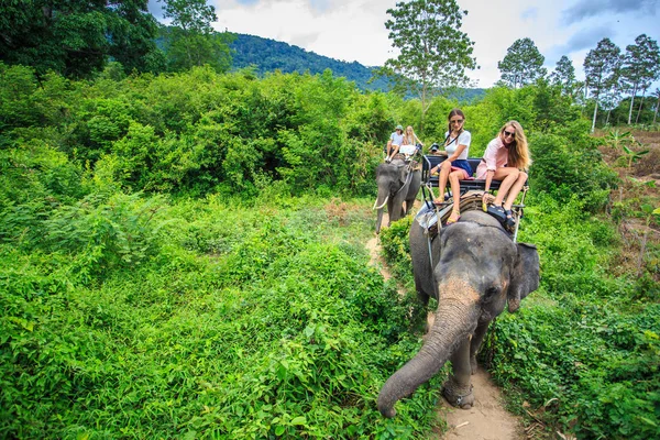
[[345, 243], [353, 229], [362, 240], [371, 212], [340, 227], [290, 199], [267, 210], [227, 202], [180, 199], [150, 220], [161, 198], [88, 197], [50, 215], [30, 253], [0, 246], [3, 437], [429, 429], [439, 378], [399, 403], [396, 419], [375, 407], [419, 340], [410, 302]]

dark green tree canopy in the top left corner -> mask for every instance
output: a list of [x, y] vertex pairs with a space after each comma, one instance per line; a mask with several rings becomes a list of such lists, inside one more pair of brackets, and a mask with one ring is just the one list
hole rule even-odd
[[48, 69], [68, 77], [89, 77], [108, 59], [125, 72], [157, 70], [163, 57], [154, 36], [156, 20], [146, 0], [13, 1], [0, 14], [0, 59]]

